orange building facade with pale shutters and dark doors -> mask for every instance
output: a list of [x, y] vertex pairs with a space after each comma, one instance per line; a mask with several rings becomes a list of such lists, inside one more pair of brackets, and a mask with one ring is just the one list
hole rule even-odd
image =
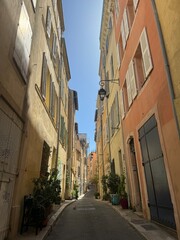
[[129, 201], [179, 235], [179, 132], [152, 1], [115, 0], [113, 9]]

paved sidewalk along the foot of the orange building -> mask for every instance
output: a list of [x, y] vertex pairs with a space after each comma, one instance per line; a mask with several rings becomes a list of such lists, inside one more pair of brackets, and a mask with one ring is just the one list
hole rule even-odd
[[[111, 205], [111, 203], [108, 203]], [[177, 235], [173, 230], [167, 230], [151, 221], [144, 219], [141, 214], [130, 209], [122, 209], [120, 205], [112, 207], [133, 226], [147, 240], [177, 240]]]

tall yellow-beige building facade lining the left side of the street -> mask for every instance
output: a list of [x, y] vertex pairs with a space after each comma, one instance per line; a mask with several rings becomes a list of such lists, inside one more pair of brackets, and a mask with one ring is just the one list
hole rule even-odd
[[33, 178], [60, 170], [61, 156], [66, 165], [59, 129], [70, 72], [61, 1], [2, 1], [0, 14], [0, 239], [15, 239]]

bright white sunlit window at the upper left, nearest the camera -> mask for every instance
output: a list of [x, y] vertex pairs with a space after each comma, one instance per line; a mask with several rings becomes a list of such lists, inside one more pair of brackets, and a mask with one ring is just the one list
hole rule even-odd
[[31, 41], [32, 29], [29, 16], [22, 3], [13, 57], [25, 81], [27, 81]]

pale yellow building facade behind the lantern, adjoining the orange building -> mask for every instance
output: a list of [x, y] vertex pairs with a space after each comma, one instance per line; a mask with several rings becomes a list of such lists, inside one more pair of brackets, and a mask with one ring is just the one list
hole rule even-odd
[[108, 175], [110, 172], [118, 175], [126, 173], [119, 110], [120, 59], [113, 25], [113, 8], [113, 1], [104, 1], [100, 30], [99, 75], [101, 89], [105, 89], [106, 95], [103, 101], [98, 96], [95, 116], [100, 179], [102, 175]]

